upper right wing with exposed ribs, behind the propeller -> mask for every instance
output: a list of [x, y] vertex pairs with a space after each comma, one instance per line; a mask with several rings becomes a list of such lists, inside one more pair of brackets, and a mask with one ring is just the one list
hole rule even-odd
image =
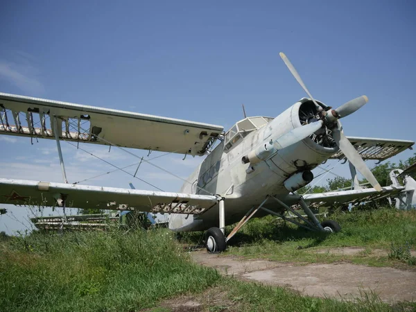
[[[347, 137], [363, 159], [374, 159], [380, 162], [407, 148], [411, 148], [415, 142], [407, 140], [375, 139], [370, 137]], [[341, 150], [333, 154], [331, 159], [343, 159], [345, 155]]]

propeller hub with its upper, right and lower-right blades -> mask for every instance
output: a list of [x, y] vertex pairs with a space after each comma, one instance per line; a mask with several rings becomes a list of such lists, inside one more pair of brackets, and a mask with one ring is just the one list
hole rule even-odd
[[[302, 81], [302, 78], [300, 78], [299, 73], [297, 73], [295, 67], [293, 66], [291, 61], [286, 57], [286, 55], [282, 52], [279, 54], [280, 54], [281, 59], [284, 61], [284, 63], [288, 67], [289, 71], [291, 71], [292, 75], [295, 77], [295, 79], [300, 84], [300, 86], [304, 89], [306, 94], [309, 95], [313, 103], [315, 103], [315, 105], [319, 105], [320, 107], [326, 108], [327, 107], [326, 105], [322, 106], [315, 101], [315, 99], [312, 97], [309, 90], [306, 88], [306, 85]], [[377, 182], [376, 177], [374, 177], [370, 169], [365, 165], [365, 162], [361, 158], [360, 154], [358, 154], [354, 146], [351, 144], [349, 139], [345, 137], [343, 132], [340, 131], [341, 126], [338, 121], [338, 119], [348, 116], [349, 114], [352, 114], [353, 112], [356, 112], [356, 110], [359, 110], [367, 102], [368, 102], [367, 96], [360, 96], [358, 98], [354, 98], [354, 100], [344, 103], [343, 105], [338, 107], [336, 110], [328, 110], [327, 112], [324, 112], [324, 114], [322, 114], [321, 121], [324, 125], [327, 126], [327, 128], [332, 130], [333, 140], [338, 145], [340, 150], [344, 153], [345, 157], [347, 157], [349, 162], [351, 162], [356, 167], [356, 169], [360, 171], [360, 173], [367, 179], [368, 182], [370, 182], [370, 184], [372, 184], [372, 187], [374, 187], [376, 191], [382, 191], [379, 182]], [[313, 123], [311, 123], [311, 125], [312, 124]], [[306, 125], [303, 125], [300, 128], [304, 128], [304, 127], [306, 127]], [[282, 136], [281, 138], [284, 139], [285, 136], [286, 135]], [[280, 139], [278, 141], [280, 143]]]

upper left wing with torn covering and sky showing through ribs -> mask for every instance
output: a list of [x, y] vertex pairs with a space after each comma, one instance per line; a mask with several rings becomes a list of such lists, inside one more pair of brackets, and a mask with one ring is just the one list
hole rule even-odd
[[0, 134], [53, 139], [54, 117], [64, 140], [192, 155], [204, 155], [223, 131], [219, 125], [0, 93]]

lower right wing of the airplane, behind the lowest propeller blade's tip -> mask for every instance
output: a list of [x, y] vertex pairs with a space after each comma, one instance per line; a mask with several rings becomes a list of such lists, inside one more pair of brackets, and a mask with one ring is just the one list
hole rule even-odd
[[383, 191], [381, 192], [371, 188], [306, 194], [303, 198], [306, 203], [313, 204], [313, 207], [328, 207], [335, 203], [340, 205], [348, 205], [349, 203], [352, 203], [352, 205], [355, 205], [360, 202], [378, 200], [388, 196], [397, 196], [398, 193], [404, 191], [405, 187], [383, 187], [382, 189]]

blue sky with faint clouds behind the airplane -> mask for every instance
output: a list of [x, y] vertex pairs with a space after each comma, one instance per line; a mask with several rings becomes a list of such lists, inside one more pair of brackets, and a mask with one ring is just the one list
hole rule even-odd
[[[306, 96], [279, 58], [283, 51], [327, 105], [368, 96], [343, 119], [346, 135], [415, 141], [415, 13], [413, 1], [1, 1], [0, 92], [227, 130], [243, 118], [242, 103], [249, 116], [277, 116]], [[82, 147], [116, 165], [137, 163], [120, 150]], [[0, 177], [62, 182], [54, 141], [0, 136], [0, 150]], [[62, 150], [69, 182], [113, 169], [67, 143]], [[155, 163], [186, 178], [202, 159], [182, 158]], [[182, 185], [146, 164], [138, 172], [164, 191]], [[84, 184], [128, 182], [152, 189], [120, 172]], [[27, 209], [1, 207], [9, 212], [0, 231], [30, 227]]]

